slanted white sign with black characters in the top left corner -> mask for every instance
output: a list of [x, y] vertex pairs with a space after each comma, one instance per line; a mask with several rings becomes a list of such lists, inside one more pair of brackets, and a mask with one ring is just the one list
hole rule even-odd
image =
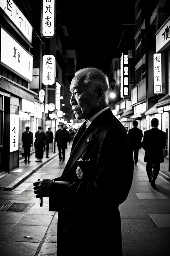
[[16, 6], [14, 1], [0, 0], [0, 7], [31, 44], [33, 28], [18, 6]]

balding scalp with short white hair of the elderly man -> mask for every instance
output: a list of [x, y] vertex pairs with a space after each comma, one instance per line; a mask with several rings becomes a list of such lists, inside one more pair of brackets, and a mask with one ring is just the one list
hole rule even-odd
[[109, 97], [109, 80], [107, 76], [97, 68], [83, 68], [75, 73], [75, 77], [73, 78], [71, 83], [79, 83], [80, 85], [89, 86], [89, 90], [91, 93], [97, 87], [103, 88], [104, 91], [104, 99], [108, 102]]

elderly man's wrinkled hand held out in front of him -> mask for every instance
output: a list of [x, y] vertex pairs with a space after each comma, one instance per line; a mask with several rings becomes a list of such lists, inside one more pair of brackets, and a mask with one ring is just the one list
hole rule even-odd
[[44, 179], [39, 180], [33, 183], [34, 186], [34, 194], [36, 194], [37, 198], [40, 197], [49, 197], [49, 188], [51, 184], [53, 183], [53, 180], [50, 179]]

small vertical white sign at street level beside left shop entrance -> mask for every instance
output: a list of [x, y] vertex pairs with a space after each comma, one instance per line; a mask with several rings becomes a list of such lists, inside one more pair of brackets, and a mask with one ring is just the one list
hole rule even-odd
[[10, 114], [10, 152], [19, 149], [19, 115]]

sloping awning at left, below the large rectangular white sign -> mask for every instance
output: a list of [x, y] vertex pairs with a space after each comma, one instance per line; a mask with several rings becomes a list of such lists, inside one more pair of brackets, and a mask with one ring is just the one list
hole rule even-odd
[[2, 78], [0, 78], [0, 89], [8, 91], [8, 93], [14, 94], [22, 99], [29, 100], [30, 102], [34, 102], [34, 96], [30, 93], [27, 93], [22, 88], [19, 88], [10, 82], [6, 82]]

